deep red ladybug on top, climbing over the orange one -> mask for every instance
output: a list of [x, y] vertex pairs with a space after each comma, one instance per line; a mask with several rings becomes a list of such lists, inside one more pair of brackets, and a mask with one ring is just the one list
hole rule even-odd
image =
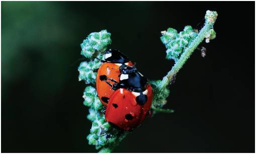
[[105, 119], [110, 124], [132, 131], [146, 117], [151, 116], [153, 92], [147, 78], [133, 66], [120, 67], [119, 83], [111, 95], [105, 111]]

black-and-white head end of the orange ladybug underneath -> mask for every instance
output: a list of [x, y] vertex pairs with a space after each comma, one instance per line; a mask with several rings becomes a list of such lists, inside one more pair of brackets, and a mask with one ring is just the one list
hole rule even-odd
[[128, 58], [122, 54], [118, 49], [109, 49], [105, 51], [105, 61], [111, 63], [126, 63]]

